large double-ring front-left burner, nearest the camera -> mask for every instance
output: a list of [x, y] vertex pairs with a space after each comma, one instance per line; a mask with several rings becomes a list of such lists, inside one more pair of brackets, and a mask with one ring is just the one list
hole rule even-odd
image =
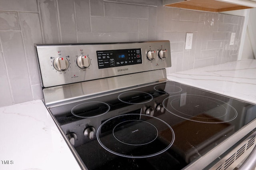
[[97, 140], [118, 156], [147, 158], [168, 150], [174, 142], [174, 131], [156, 117], [127, 114], [105, 121], [97, 130]]

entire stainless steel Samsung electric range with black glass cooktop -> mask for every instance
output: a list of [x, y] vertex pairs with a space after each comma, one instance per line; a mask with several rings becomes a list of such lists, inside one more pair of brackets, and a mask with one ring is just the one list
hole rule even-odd
[[44, 103], [82, 169], [234, 169], [255, 146], [255, 105], [169, 81], [169, 41], [36, 51]]

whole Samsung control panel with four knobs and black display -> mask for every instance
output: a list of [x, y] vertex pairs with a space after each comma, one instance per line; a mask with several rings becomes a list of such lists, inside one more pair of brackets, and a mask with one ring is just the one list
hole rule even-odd
[[171, 67], [170, 42], [36, 45], [43, 87]]

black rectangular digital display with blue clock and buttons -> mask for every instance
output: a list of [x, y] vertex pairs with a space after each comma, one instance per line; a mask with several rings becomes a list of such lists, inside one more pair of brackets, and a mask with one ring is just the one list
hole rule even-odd
[[141, 49], [116, 49], [97, 51], [99, 69], [119, 67], [125, 65], [141, 64]]

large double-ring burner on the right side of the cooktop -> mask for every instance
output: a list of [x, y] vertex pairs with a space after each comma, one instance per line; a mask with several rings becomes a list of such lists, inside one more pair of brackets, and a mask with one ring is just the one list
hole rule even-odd
[[164, 99], [163, 105], [178, 117], [200, 123], [225, 123], [237, 117], [228, 103], [201, 95], [173, 95]]

